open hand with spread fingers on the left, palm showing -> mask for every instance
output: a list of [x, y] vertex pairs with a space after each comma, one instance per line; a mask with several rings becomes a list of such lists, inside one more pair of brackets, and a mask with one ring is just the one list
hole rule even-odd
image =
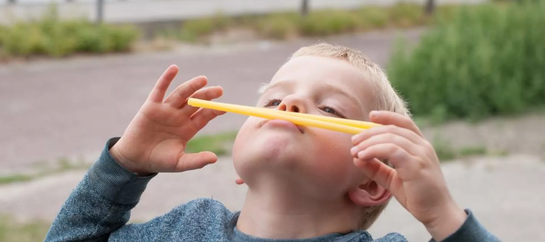
[[207, 87], [207, 78], [198, 76], [178, 86], [164, 99], [166, 90], [178, 73], [171, 65], [159, 78], [148, 99], [119, 141], [110, 149], [113, 158], [141, 176], [156, 172], [183, 172], [214, 163], [212, 152], [187, 154], [187, 141], [211, 119], [225, 112], [187, 105], [187, 98], [219, 98], [221, 87]]

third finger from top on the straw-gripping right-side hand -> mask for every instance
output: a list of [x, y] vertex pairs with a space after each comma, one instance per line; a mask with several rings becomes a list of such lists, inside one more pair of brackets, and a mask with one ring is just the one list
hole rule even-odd
[[418, 156], [420, 154], [419, 146], [417, 146], [415, 143], [411, 142], [410, 140], [408, 140], [407, 138], [403, 136], [392, 134], [392, 133], [383, 133], [383, 134], [371, 136], [370, 138], [367, 138], [366, 140], [352, 147], [352, 149], [350, 149], [350, 153], [353, 156], [356, 156], [362, 150], [365, 150], [376, 144], [383, 144], [383, 143], [395, 144], [396, 146], [406, 150], [411, 155]]

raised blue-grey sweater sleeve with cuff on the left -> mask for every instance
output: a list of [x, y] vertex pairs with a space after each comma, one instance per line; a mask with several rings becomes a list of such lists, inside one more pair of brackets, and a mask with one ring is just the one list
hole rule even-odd
[[130, 210], [156, 174], [137, 177], [119, 165], [109, 152], [118, 140], [108, 140], [99, 160], [63, 204], [44, 241], [107, 241], [129, 221]]

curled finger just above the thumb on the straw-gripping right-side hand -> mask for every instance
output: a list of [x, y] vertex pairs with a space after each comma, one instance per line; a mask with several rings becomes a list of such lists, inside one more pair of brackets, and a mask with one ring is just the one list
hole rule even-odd
[[402, 167], [415, 167], [415, 156], [409, 154], [407, 150], [392, 143], [380, 143], [368, 147], [358, 153], [358, 158], [361, 160], [388, 160], [396, 170]]

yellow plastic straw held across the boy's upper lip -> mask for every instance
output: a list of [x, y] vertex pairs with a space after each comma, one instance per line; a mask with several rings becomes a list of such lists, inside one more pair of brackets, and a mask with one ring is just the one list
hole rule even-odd
[[380, 124], [362, 122], [358, 120], [349, 120], [342, 118], [333, 118], [318, 116], [306, 113], [286, 112], [280, 110], [270, 110], [268, 108], [249, 107], [235, 104], [224, 104], [195, 98], [189, 98], [187, 104], [193, 107], [210, 108], [225, 112], [239, 113], [247, 116], [255, 116], [267, 119], [282, 119], [297, 125], [313, 126], [333, 131], [346, 132], [348, 134], [358, 134], [359, 132], [378, 126]]

